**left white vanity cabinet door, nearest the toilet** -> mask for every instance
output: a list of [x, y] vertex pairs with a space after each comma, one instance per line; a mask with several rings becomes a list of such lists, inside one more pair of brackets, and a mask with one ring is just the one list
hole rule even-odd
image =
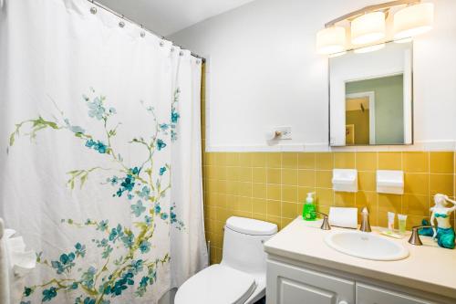
[[267, 263], [267, 304], [355, 304], [355, 282], [276, 261]]

